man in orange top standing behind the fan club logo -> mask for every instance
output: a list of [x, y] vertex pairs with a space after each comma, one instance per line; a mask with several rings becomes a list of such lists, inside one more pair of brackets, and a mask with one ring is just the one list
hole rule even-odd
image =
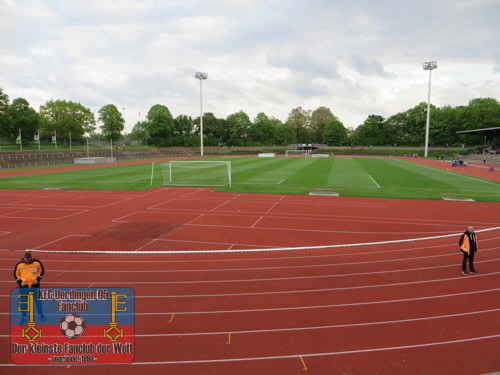
[[[45, 269], [42, 262], [33, 258], [31, 253], [26, 252], [23, 258], [14, 267], [14, 278], [20, 288], [40, 288], [40, 280], [42, 280]], [[45, 320], [43, 315], [42, 302], [38, 299], [38, 291], [35, 291], [34, 299], [38, 316], [42, 321]], [[22, 312], [21, 324], [27, 320], [26, 312]]]

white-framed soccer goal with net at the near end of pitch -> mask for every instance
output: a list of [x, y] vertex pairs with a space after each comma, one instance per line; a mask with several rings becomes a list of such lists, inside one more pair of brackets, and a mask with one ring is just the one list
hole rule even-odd
[[[159, 170], [158, 170], [159, 169]], [[151, 185], [155, 172], [168, 186], [232, 186], [231, 162], [208, 160], [172, 160], [151, 167]]]

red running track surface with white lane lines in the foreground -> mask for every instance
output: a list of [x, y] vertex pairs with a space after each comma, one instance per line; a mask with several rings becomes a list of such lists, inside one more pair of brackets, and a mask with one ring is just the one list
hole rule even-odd
[[[498, 203], [144, 191], [2, 191], [0, 314], [12, 267], [40, 253], [43, 286], [130, 287], [132, 365], [36, 373], [484, 374], [500, 370], [500, 231], [477, 276], [458, 238], [285, 252], [75, 255], [349, 244], [500, 225]], [[75, 267], [74, 265], [78, 266]], [[0, 344], [9, 345], [9, 319]], [[0, 372], [14, 374], [9, 351]]]

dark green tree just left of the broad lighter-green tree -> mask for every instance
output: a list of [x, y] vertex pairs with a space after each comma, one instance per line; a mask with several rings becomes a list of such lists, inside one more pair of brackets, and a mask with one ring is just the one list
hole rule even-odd
[[7, 114], [11, 119], [10, 139], [15, 139], [21, 129], [23, 144], [31, 142], [33, 136], [38, 133], [40, 118], [28, 101], [23, 98], [14, 99], [7, 109]]

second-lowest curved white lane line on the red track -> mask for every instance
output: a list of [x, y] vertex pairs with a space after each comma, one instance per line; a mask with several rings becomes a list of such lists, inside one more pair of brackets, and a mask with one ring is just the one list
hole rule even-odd
[[[489, 309], [489, 310], [470, 311], [470, 312], [459, 313], [459, 314], [425, 316], [422, 318], [412, 318], [412, 319], [385, 320], [385, 321], [382, 320], [382, 321], [373, 321], [373, 322], [364, 322], [364, 323], [334, 324], [334, 325], [326, 325], [326, 326], [306, 326], [306, 327], [290, 327], [290, 328], [238, 330], [238, 331], [231, 331], [231, 333], [242, 335], [242, 334], [274, 333], [274, 332], [300, 332], [300, 331], [315, 331], [315, 330], [322, 330], [322, 329], [377, 326], [377, 325], [386, 325], [386, 324], [403, 324], [403, 323], [412, 323], [412, 322], [419, 322], [419, 321], [456, 318], [456, 317], [461, 317], [461, 316], [488, 314], [488, 313], [498, 312], [498, 311], [500, 311], [500, 308]], [[223, 335], [223, 334], [227, 334], [227, 331], [151, 333], [151, 334], [143, 333], [143, 334], [135, 334], [134, 336], [135, 337], [176, 337], [176, 336], [213, 336], [213, 335]], [[10, 335], [0, 335], [0, 337], [10, 337]], [[44, 337], [60, 337], [60, 336], [56, 335], [56, 336], [44, 336]], [[86, 336], [86, 337], [101, 337], [101, 336]]]

